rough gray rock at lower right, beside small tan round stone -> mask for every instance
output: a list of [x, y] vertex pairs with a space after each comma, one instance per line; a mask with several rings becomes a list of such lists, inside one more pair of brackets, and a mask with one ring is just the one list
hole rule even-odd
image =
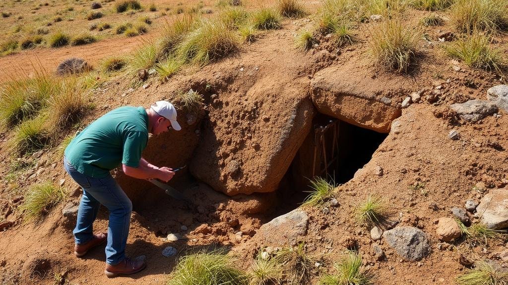
[[430, 253], [425, 233], [414, 227], [396, 227], [383, 234], [395, 252], [408, 261], [419, 261]]

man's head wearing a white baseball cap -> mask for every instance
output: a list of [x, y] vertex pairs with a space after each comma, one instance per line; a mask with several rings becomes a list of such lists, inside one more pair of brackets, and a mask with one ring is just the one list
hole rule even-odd
[[168, 101], [157, 101], [150, 106], [151, 111], [155, 113], [152, 123], [152, 133], [154, 135], [167, 132], [170, 129], [181, 130], [180, 124], [176, 121], [176, 109]]

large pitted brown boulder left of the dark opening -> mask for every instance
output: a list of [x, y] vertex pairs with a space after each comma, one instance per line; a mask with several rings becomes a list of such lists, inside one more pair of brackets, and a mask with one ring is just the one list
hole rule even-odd
[[266, 77], [213, 95], [190, 172], [230, 196], [275, 191], [311, 128], [306, 82]]

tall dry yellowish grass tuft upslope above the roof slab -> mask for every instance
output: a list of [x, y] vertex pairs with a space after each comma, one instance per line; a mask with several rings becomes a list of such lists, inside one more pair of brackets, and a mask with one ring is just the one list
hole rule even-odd
[[376, 24], [370, 31], [370, 51], [382, 68], [406, 72], [414, 61], [421, 32], [414, 26], [403, 25], [395, 17]]

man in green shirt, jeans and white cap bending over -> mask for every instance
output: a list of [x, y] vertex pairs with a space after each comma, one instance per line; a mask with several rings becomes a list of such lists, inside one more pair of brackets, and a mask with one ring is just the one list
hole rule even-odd
[[[132, 202], [109, 171], [121, 163], [123, 172], [137, 179], [171, 180], [175, 175], [171, 168], [158, 168], [141, 156], [148, 133], [158, 135], [171, 128], [181, 129], [175, 107], [167, 101], [157, 101], [148, 109], [125, 106], [91, 123], [65, 150], [64, 168], [83, 189], [73, 231], [74, 254], [82, 257], [107, 240], [108, 277], [133, 274], [146, 267], [144, 260], [125, 257]], [[109, 210], [108, 232], [93, 234], [92, 224], [101, 204]]]

